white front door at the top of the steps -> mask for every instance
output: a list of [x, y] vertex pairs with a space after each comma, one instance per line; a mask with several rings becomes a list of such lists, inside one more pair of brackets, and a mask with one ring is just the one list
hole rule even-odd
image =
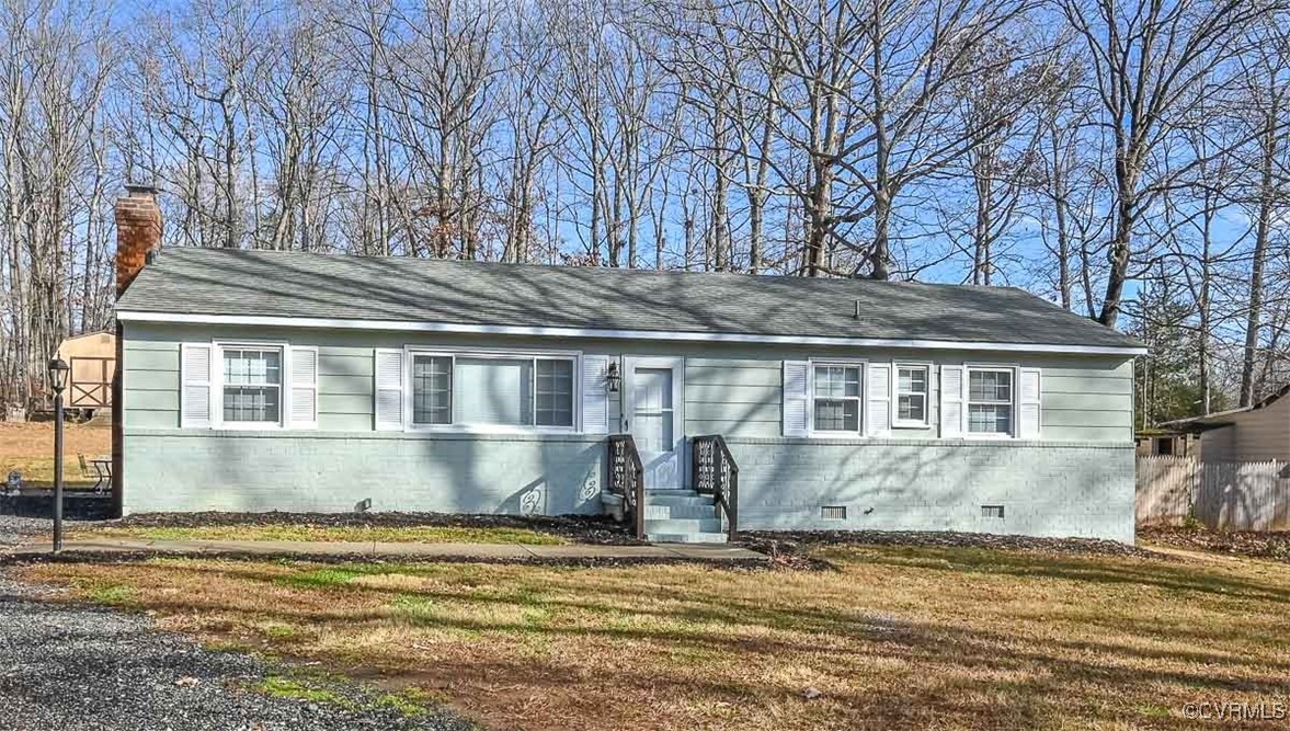
[[682, 358], [633, 358], [624, 361], [627, 387], [623, 414], [627, 431], [645, 464], [645, 487], [679, 489], [685, 485], [685, 429], [681, 379]]

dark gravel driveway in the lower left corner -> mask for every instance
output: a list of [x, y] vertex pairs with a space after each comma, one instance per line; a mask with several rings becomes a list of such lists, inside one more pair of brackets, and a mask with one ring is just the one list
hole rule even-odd
[[468, 728], [446, 716], [377, 708], [375, 694], [356, 685], [329, 687], [353, 709], [245, 690], [273, 669], [156, 630], [142, 615], [49, 602], [46, 592], [0, 572], [6, 731]]

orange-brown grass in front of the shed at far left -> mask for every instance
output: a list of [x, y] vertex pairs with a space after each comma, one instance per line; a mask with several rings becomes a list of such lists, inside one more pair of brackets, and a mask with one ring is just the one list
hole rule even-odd
[[[94, 483], [80, 473], [77, 454], [106, 456], [112, 451], [112, 429], [106, 425], [67, 424], [63, 432], [63, 477], [68, 483]], [[26, 482], [54, 481], [54, 424], [0, 422], [0, 480], [18, 469]]]

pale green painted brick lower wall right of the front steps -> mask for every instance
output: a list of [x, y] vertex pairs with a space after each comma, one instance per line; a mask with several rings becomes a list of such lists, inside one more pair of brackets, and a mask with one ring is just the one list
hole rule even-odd
[[[1133, 445], [728, 438], [753, 530], [1134, 538]], [[823, 520], [820, 508], [846, 508]], [[1004, 518], [982, 516], [1002, 505]]]

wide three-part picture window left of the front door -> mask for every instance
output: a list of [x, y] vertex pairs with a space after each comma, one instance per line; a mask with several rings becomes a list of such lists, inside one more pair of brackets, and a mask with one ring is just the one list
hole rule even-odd
[[574, 427], [574, 356], [412, 356], [417, 427]]

